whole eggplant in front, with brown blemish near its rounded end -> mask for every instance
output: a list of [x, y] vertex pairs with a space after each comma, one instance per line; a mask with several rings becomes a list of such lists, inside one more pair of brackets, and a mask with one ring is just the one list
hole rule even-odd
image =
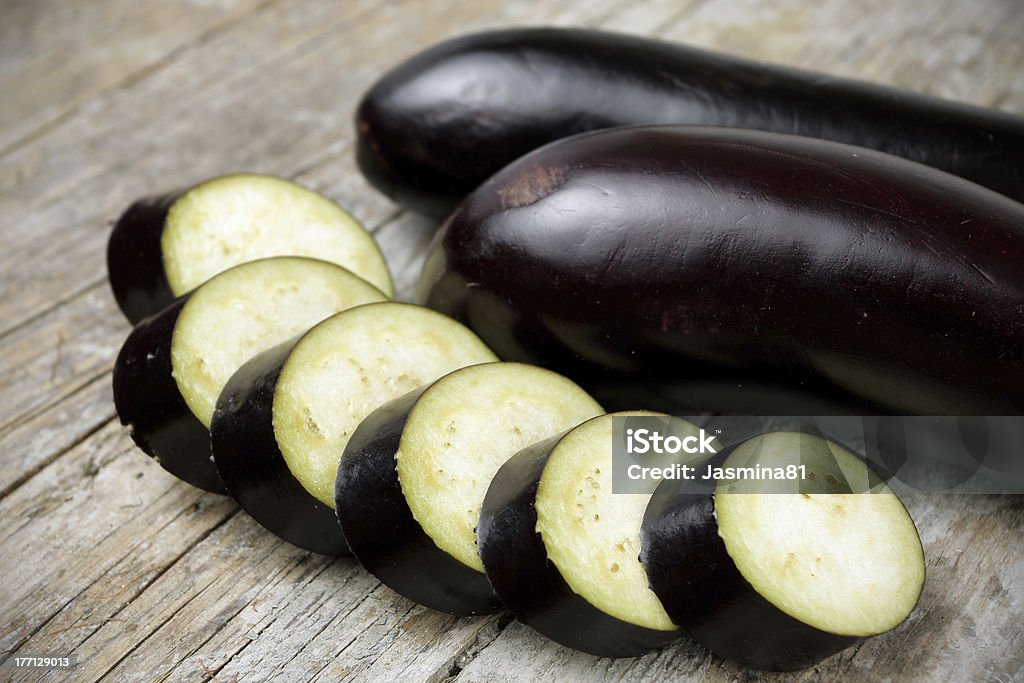
[[435, 237], [419, 297], [609, 410], [617, 392], [632, 409], [785, 415], [796, 392], [822, 408], [788, 414], [1021, 415], [1021, 263], [1024, 205], [962, 178], [652, 126], [503, 169]]

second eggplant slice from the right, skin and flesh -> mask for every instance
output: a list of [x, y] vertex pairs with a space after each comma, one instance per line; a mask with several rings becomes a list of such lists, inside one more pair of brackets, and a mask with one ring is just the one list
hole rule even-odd
[[[523, 623], [599, 656], [634, 656], [679, 637], [648, 587], [640, 524], [650, 494], [612, 493], [614, 417], [528, 446], [498, 471], [477, 529], [495, 593]], [[676, 421], [680, 436], [699, 430]]]

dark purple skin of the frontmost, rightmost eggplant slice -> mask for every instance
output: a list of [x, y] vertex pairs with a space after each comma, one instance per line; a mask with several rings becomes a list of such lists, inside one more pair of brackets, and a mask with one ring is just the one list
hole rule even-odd
[[766, 671], [807, 669], [860, 640], [808, 626], [763, 598], [718, 535], [714, 494], [668, 493], [673, 483], [659, 486], [647, 506], [640, 559], [669, 617], [690, 637]]

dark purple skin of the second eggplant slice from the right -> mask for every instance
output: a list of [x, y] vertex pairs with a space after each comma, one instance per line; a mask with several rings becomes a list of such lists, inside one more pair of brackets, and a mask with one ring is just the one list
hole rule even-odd
[[537, 487], [551, 451], [563, 435], [517, 453], [487, 487], [476, 535], [490, 585], [516, 618], [572, 649], [631, 657], [671, 643], [682, 634], [606, 614], [577, 595], [548, 561], [537, 532]]

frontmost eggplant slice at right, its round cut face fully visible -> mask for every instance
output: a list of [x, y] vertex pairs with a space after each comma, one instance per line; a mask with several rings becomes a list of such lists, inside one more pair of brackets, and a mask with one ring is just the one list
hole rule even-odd
[[921, 539], [862, 459], [798, 432], [721, 456], [710, 467], [805, 470], [793, 480], [718, 477], [711, 492], [667, 480], [654, 493], [641, 559], [694, 640], [744, 667], [795, 671], [910, 614], [925, 581]]

